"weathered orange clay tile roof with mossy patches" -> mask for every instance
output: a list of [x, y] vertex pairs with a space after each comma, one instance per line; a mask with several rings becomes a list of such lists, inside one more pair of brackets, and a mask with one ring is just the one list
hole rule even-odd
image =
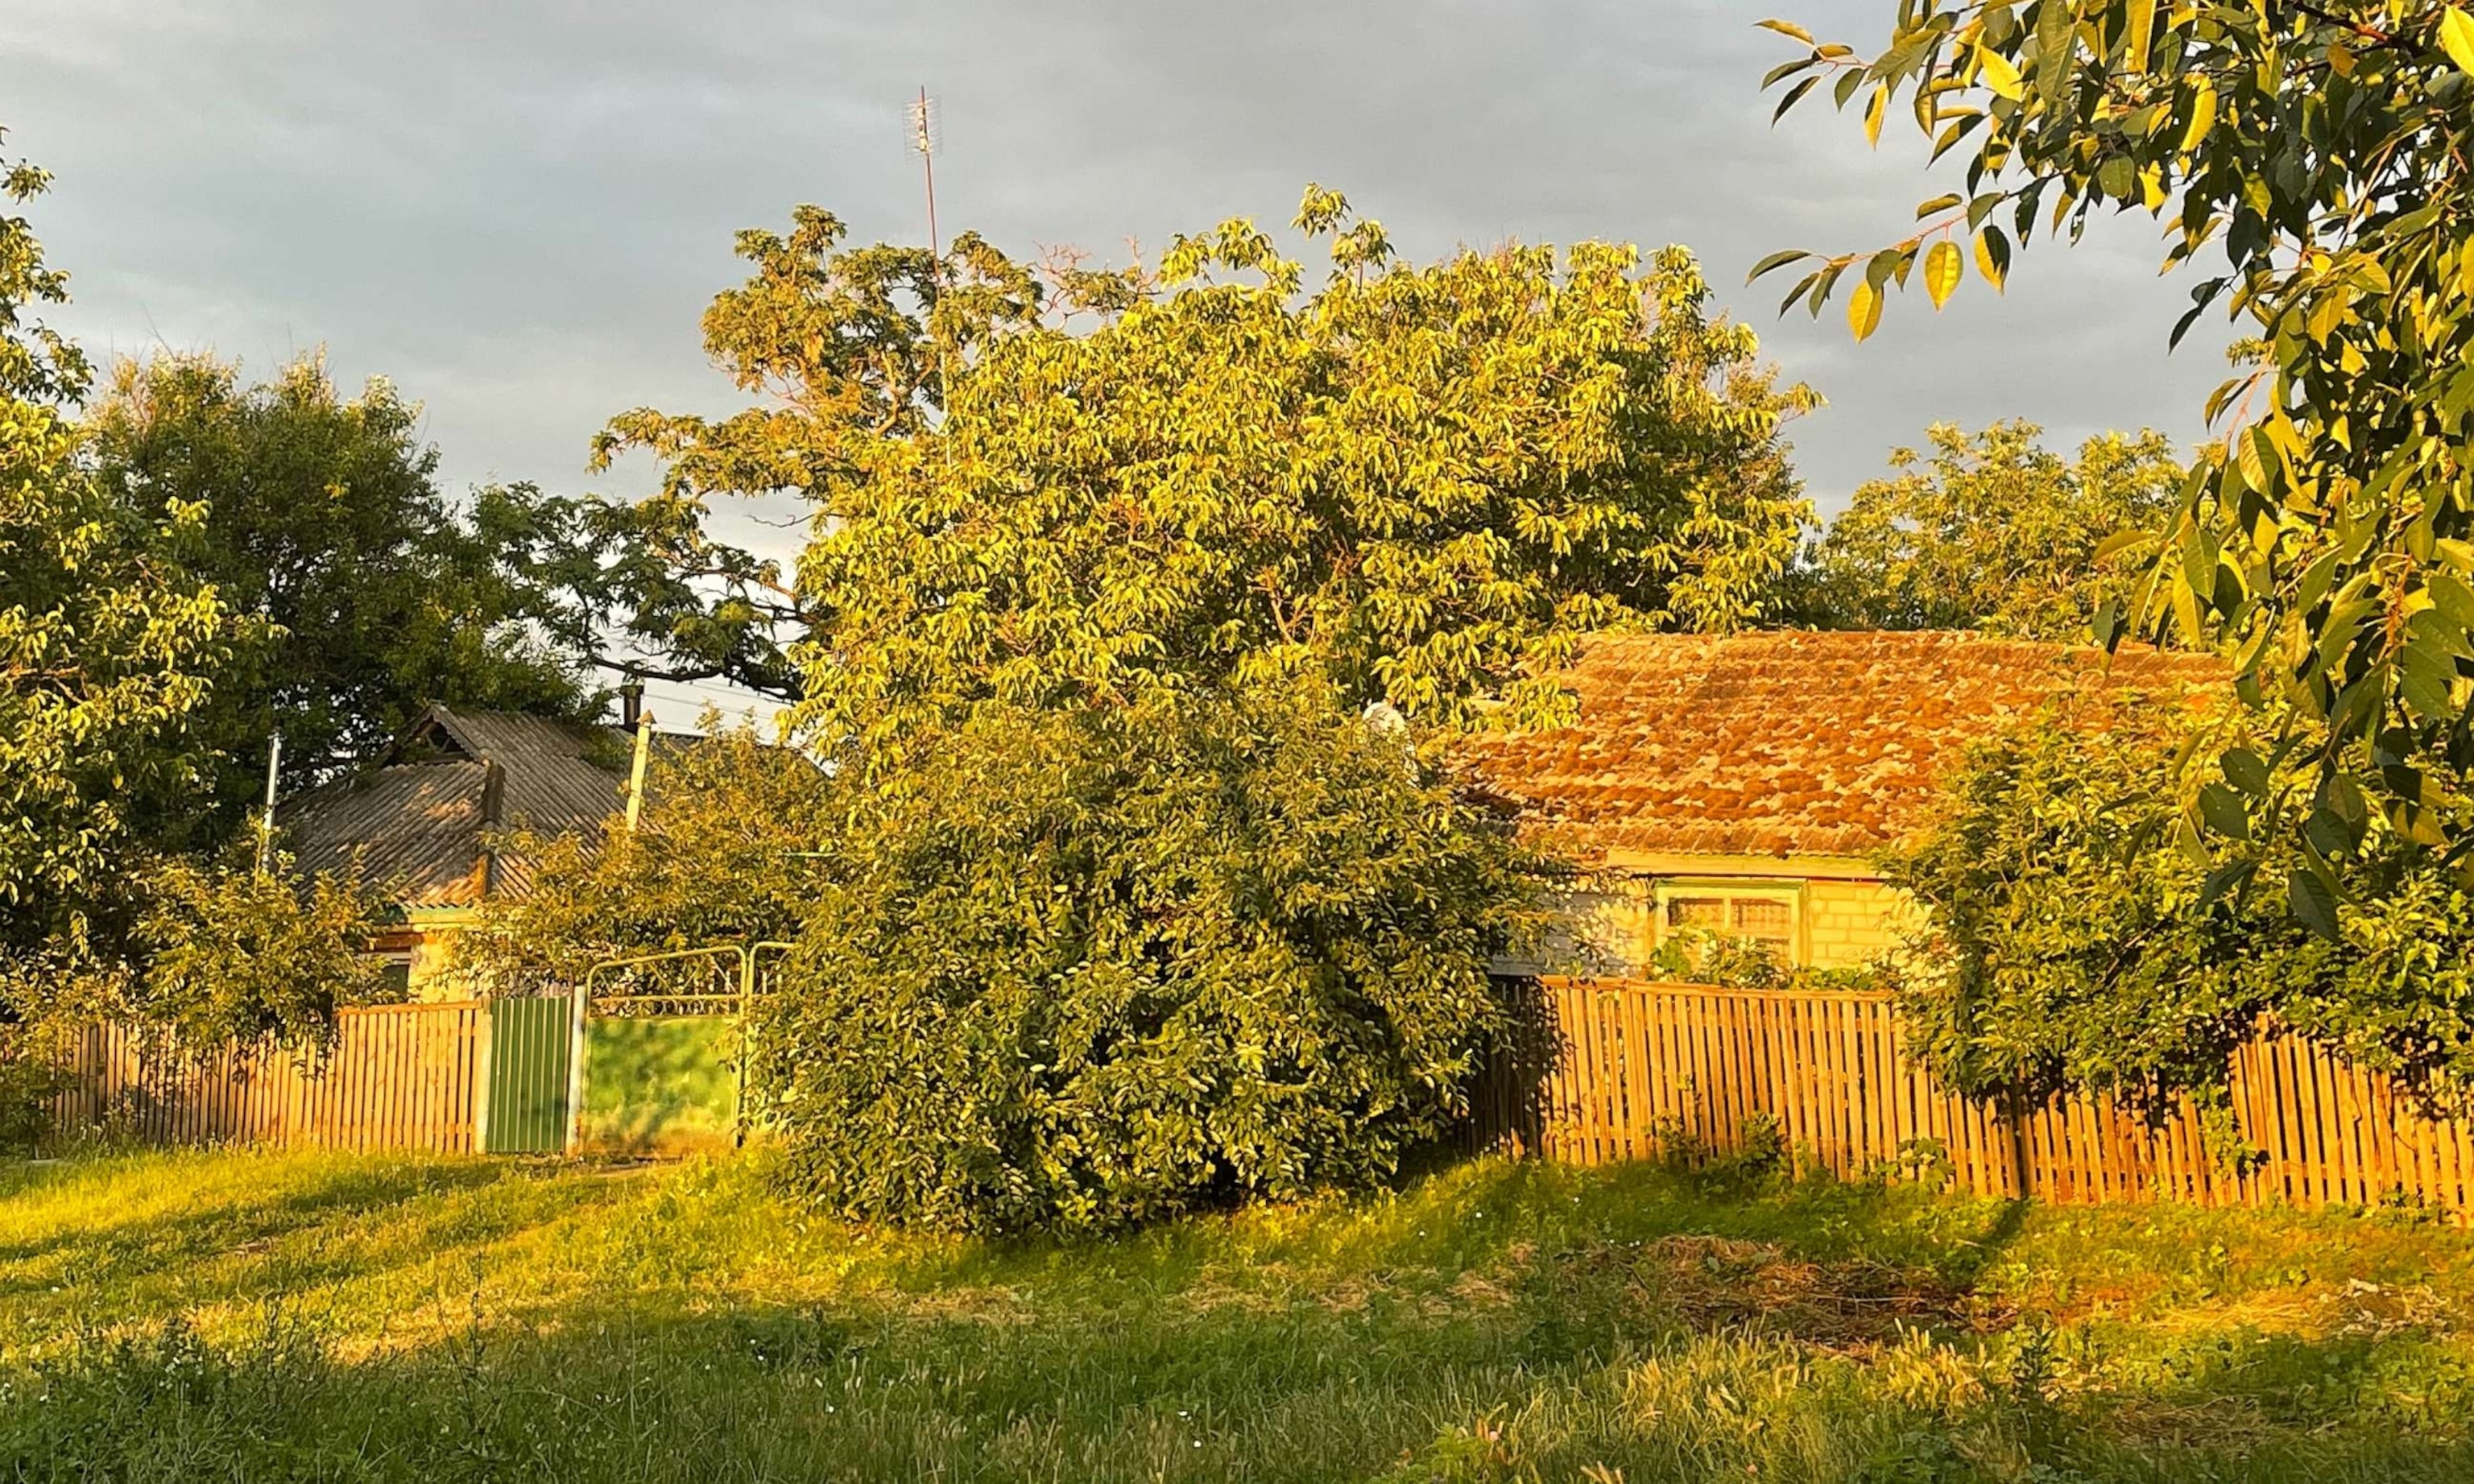
[[1578, 725], [1482, 737], [1487, 784], [1583, 856], [1870, 856], [1922, 826], [1969, 742], [2076, 688], [2073, 725], [2125, 695], [2219, 690], [2209, 655], [1974, 633], [1628, 633], [1564, 675]]

